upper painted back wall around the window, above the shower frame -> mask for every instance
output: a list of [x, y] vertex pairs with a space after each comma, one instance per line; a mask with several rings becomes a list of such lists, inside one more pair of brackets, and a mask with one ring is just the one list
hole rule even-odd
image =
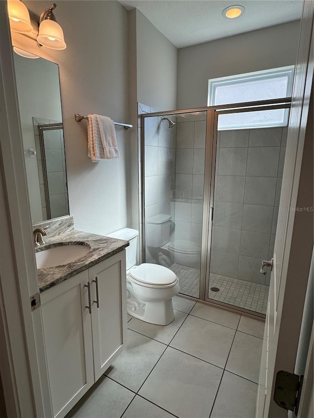
[[179, 109], [207, 106], [209, 78], [293, 65], [299, 21], [179, 49]]

